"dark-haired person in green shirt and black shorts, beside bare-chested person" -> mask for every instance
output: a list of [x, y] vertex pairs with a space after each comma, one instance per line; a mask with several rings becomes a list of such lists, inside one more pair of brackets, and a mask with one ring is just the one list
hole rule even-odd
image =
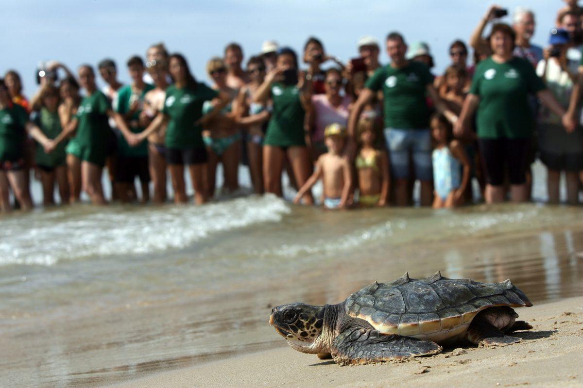
[[123, 133], [123, 136], [118, 137], [115, 187], [120, 201], [129, 202], [128, 193], [134, 189], [134, 179], [137, 176], [142, 184], [142, 202], [147, 202], [150, 198], [147, 143], [142, 141], [136, 147], [130, 147], [127, 138], [143, 130], [139, 117], [143, 109], [144, 96], [154, 87], [143, 81], [144, 63], [139, 56], [132, 56], [128, 60], [128, 70], [132, 84], [120, 88], [116, 110], [124, 117], [131, 133]]

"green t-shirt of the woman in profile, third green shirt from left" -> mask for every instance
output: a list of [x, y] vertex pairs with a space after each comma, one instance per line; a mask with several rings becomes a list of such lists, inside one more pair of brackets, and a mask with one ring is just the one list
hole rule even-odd
[[111, 130], [106, 112], [111, 104], [106, 95], [96, 90], [92, 95], [83, 97], [76, 117], [79, 120], [75, 136], [80, 147], [106, 151], [106, 141]]

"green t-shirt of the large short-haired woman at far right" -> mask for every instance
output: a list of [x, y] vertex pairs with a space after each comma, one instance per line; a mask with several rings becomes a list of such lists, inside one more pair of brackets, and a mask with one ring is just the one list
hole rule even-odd
[[530, 138], [535, 120], [528, 96], [544, 88], [526, 59], [512, 58], [505, 63], [494, 62], [491, 57], [484, 59], [476, 67], [470, 88], [470, 93], [480, 98], [477, 137]]

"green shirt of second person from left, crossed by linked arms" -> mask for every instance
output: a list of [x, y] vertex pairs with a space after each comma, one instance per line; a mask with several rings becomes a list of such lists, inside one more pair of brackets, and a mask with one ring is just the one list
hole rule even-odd
[[[59, 119], [59, 113], [50, 112], [47, 108], [41, 108], [39, 112], [35, 113], [34, 123], [43, 131], [44, 136], [50, 139], [54, 139], [61, 133], [61, 120]], [[65, 164], [65, 147], [67, 145], [66, 141], [62, 141], [57, 145], [50, 154], [44, 152], [44, 148], [41, 144], [37, 144], [35, 160], [37, 165], [45, 167], [56, 167]]]

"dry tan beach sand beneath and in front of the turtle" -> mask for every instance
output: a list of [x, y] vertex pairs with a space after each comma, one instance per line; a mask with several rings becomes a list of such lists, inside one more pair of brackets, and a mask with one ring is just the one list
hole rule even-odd
[[534, 328], [517, 333], [523, 340], [510, 346], [463, 346], [406, 362], [338, 366], [298, 353], [282, 339], [281, 348], [110, 387], [582, 387], [583, 297], [517, 312]]

